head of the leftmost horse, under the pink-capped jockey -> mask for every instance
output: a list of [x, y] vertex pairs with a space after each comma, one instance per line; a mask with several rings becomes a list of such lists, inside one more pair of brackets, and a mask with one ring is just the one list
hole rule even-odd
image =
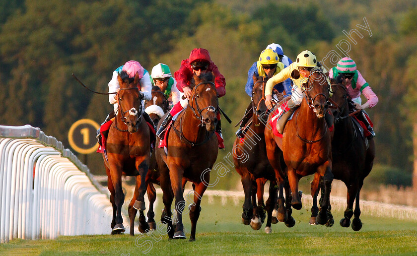
[[143, 94], [138, 88], [139, 74], [135, 77], [129, 77], [128, 73], [121, 71], [117, 79], [119, 81], [120, 90], [117, 94], [119, 106], [118, 115], [121, 115], [123, 123], [128, 127], [130, 133], [138, 130], [141, 123], [142, 99]]

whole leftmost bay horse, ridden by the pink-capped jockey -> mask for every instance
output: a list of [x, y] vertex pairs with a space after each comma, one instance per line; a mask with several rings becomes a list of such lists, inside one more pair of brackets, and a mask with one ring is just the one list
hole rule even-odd
[[141, 115], [143, 95], [138, 88], [139, 75], [129, 78], [129, 75], [122, 71], [118, 75], [118, 81], [120, 84], [120, 91], [117, 94], [119, 109], [107, 138], [108, 159], [104, 153], [103, 159], [108, 177], [110, 202], [113, 206], [112, 234], [125, 232], [122, 219], [122, 205], [125, 200], [122, 175], [140, 177], [136, 182], [135, 196], [129, 204], [130, 234], [134, 235], [136, 208], [145, 209], [143, 195], [150, 158], [149, 128]]

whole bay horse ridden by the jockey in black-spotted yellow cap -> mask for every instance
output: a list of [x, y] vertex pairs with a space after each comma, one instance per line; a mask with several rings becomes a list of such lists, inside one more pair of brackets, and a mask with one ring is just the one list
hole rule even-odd
[[[294, 111], [293, 118], [288, 122], [282, 138], [275, 136], [269, 127], [265, 129], [268, 159], [273, 166], [278, 180], [278, 212], [284, 214], [283, 195], [285, 177], [291, 189], [291, 205], [301, 209], [301, 196], [298, 192], [299, 179], [317, 173], [323, 177], [323, 204], [317, 216], [318, 224], [333, 225], [330, 213], [330, 191], [333, 181], [332, 174], [332, 132], [324, 119], [329, 107], [329, 84], [327, 75], [320, 69], [313, 69], [303, 84], [304, 98], [301, 106]], [[270, 115], [271, 118], [272, 115]], [[279, 158], [282, 150], [287, 172], [280, 169]], [[312, 192], [313, 195], [313, 192]], [[314, 207], [314, 202], [313, 202]], [[285, 215], [280, 216], [285, 219]]]

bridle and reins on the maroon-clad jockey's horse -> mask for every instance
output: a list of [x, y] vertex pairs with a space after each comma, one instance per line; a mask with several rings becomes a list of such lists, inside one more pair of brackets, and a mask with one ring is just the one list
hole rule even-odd
[[[200, 107], [199, 107], [199, 104], [198, 104], [198, 102], [197, 102], [197, 95], [196, 95], [196, 93], [195, 93], [195, 91], [197, 90], [197, 87], [199, 86], [199, 85], [201, 85], [201, 84], [210, 84], [210, 85], [213, 85], [214, 87], [215, 87], [215, 85], [214, 85], [214, 83], [213, 82], [210, 82], [210, 81], [203, 81], [203, 82], [200, 82], [199, 84], [197, 84], [195, 87], [194, 87], [194, 97], [191, 99], [192, 101], [194, 101], [195, 103], [196, 103], [196, 108], [193, 108], [193, 106], [191, 106], [191, 104], [190, 103], [188, 103], [188, 107], [193, 111], [193, 113], [194, 113], [194, 116], [197, 118], [197, 120], [199, 120], [200, 122], [201, 122], [201, 126], [202, 127], [204, 127], [204, 126], [206, 126], [206, 124], [205, 124], [205, 119], [204, 119], [204, 117], [203, 117], [203, 115], [202, 115], [202, 112], [204, 111], [204, 110], [207, 110], [208, 112], [214, 112], [214, 113], [217, 113], [217, 109], [216, 108], [214, 108], [213, 106], [208, 106], [208, 107], [206, 107], [206, 108], [203, 108], [203, 109], [200, 109]], [[217, 97], [217, 106], [218, 106], [218, 97]], [[212, 131], [212, 132], [208, 132], [208, 131], [206, 131], [206, 135], [205, 135], [205, 138], [204, 138], [204, 140], [202, 141], [202, 142], [199, 142], [199, 143], [197, 143], [197, 142], [194, 142], [194, 141], [191, 141], [191, 140], [189, 140], [189, 139], [187, 139], [185, 136], [184, 136], [184, 134], [183, 134], [183, 132], [182, 132], [182, 127], [183, 127], [183, 117], [184, 117], [184, 115], [182, 115], [181, 117], [180, 117], [180, 124], [179, 124], [179, 127], [180, 127], [180, 129], [178, 130], [177, 128], [175, 128], [175, 126], [172, 126], [172, 129], [174, 129], [174, 131], [177, 133], [177, 135], [180, 137], [180, 139], [182, 140], [182, 141], [184, 141], [185, 143], [187, 143], [187, 144], [190, 144], [191, 146], [198, 146], [198, 145], [202, 145], [202, 144], [204, 144], [204, 143], [206, 143], [207, 141], [209, 141], [209, 139], [213, 136], [213, 134], [214, 134], [214, 131]], [[199, 125], [199, 126], [200, 126]]]

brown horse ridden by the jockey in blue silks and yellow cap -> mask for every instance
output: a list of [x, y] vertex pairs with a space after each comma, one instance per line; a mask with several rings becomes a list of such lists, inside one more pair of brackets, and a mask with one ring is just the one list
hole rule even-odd
[[[245, 193], [243, 203], [242, 222], [259, 230], [265, 220], [264, 209], [267, 211], [266, 233], [271, 233], [271, 223], [277, 223], [272, 218], [277, 194], [277, 181], [274, 169], [271, 167], [266, 153], [265, 122], [268, 119], [265, 105], [264, 90], [268, 77], [253, 75], [254, 87], [252, 90], [252, 119], [248, 122], [245, 137], [237, 137], [233, 144], [233, 161], [236, 172], [241, 176]], [[241, 156], [247, 155], [243, 158]], [[265, 182], [270, 181], [269, 198], [265, 205], [263, 194]], [[258, 204], [256, 197], [258, 197]], [[294, 221], [295, 224], [295, 221]]]

